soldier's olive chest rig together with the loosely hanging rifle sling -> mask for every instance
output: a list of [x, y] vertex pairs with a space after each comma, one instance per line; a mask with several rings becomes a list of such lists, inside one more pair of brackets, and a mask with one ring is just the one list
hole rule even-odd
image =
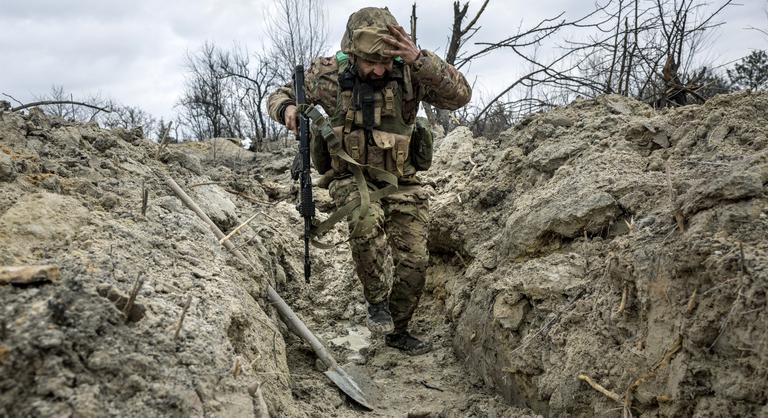
[[[396, 193], [400, 189], [398, 180], [416, 171], [408, 162], [414, 124], [405, 123], [402, 112], [403, 100], [413, 99], [405, 64], [395, 59], [390, 79], [382, 83], [383, 86], [364, 86], [357, 79], [357, 70], [351, 68], [345, 53], [337, 53], [336, 61], [339, 76], [336, 111], [328, 119], [314, 106], [300, 111], [319, 127], [318, 135], [323, 138], [331, 158], [333, 170], [329, 173], [351, 173], [357, 184], [359, 199], [346, 203], [325, 221], [314, 225], [314, 238], [352, 216], [355, 210], [360, 219], [365, 218], [371, 202]], [[381, 187], [368, 179], [386, 185]], [[352, 231], [351, 235], [355, 233]], [[312, 244], [316, 247], [334, 247], [314, 238]]]

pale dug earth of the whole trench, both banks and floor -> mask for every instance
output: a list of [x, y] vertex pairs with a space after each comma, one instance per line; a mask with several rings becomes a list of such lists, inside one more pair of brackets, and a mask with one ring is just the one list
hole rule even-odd
[[[364, 327], [344, 225], [304, 283], [292, 148], [2, 113], [0, 267], [58, 269], [0, 284], [0, 416], [254, 416], [258, 384], [272, 416], [765, 415], [767, 119], [766, 95], [606, 96], [441, 138], [413, 321], [435, 350], [409, 358]], [[252, 266], [157, 173], [225, 232], [256, 214], [232, 238]], [[375, 411], [318, 372], [267, 283], [372, 379]]]

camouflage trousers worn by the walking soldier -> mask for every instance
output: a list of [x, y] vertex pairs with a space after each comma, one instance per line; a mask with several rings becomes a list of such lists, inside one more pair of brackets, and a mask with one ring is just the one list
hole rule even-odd
[[[359, 199], [352, 178], [334, 180], [329, 192], [337, 206]], [[365, 299], [379, 303], [389, 298], [396, 331], [406, 330], [424, 289], [428, 198], [421, 185], [401, 185], [397, 193], [371, 202], [363, 219], [360, 207], [347, 218], [352, 259]], [[385, 274], [389, 251], [394, 262], [391, 288]]]

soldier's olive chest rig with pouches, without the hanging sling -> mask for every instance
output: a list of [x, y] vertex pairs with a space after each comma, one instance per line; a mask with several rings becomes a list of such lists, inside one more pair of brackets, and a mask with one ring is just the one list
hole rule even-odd
[[[407, 168], [414, 125], [405, 123], [402, 109], [403, 100], [412, 99], [413, 92], [402, 60], [395, 59], [388, 79], [371, 83], [359, 79], [343, 52], [336, 54], [336, 61], [339, 90], [330, 122], [344, 151], [373, 180], [391, 184], [393, 176], [413, 174]], [[337, 173], [349, 168], [340, 158], [332, 157], [331, 165]]]

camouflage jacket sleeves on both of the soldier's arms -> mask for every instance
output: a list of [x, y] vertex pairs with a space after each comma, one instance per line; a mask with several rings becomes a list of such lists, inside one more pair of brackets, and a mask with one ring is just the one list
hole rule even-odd
[[[402, 106], [403, 121], [407, 124], [414, 123], [421, 101], [437, 108], [456, 110], [472, 97], [472, 88], [464, 76], [433, 52], [422, 50], [421, 57], [409, 67], [415, 94]], [[304, 86], [307, 103], [319, 104], [327, 114], [332, 115], [336, 111], [339, 89], [336, 58], [315, 60], [305, 74]], [[293, 83], [278, 88], [267, 101], [269, 116], [282, 124], [281, 110], [295, 102]]]

